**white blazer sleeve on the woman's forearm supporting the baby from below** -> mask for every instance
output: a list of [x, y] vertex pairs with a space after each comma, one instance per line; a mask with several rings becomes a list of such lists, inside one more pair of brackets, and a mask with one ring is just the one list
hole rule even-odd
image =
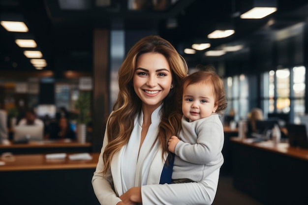
[[175, 184], [151, 184], [141, 187], [144, 205], [211, 205], [214, 202], [219, 169], [203, 181]]

